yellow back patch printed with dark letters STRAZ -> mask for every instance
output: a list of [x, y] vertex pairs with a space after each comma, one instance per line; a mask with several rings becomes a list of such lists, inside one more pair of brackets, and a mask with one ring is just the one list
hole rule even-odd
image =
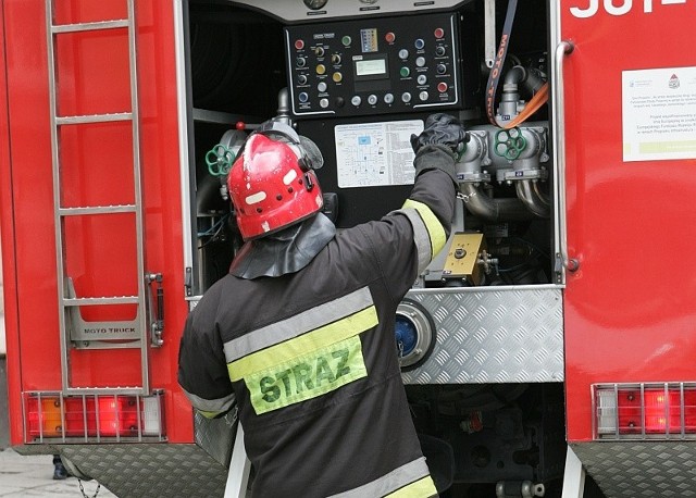
[[257, 415], [316, 398], [358, 378], [366, 377], [360, 337], [295, 358], [245, 377]]

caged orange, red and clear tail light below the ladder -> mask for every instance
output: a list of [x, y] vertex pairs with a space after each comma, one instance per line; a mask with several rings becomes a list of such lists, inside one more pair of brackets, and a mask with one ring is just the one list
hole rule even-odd
[[25, 422], [26, 443], [55, 437], [79, 440], [164, 437], [161, 393], [153, 396], [28, 393]]

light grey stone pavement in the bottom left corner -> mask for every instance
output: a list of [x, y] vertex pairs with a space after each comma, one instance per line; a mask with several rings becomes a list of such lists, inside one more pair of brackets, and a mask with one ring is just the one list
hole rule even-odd
[[53, 481], [53, 462], [50, 455], [23, 457], [11, 448], [0, 450], [0, 497], [115, 497], [105, 487], [97, 491], [96, 481], [67, 477]]

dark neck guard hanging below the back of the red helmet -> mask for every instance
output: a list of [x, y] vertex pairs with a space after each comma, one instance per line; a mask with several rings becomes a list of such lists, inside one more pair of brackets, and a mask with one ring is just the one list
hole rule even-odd
[[299, 272], [335, 235], [336, 227], [331, 220], [318, 213], [275, 234], [245, 242], [229, 273], [252, 279]]

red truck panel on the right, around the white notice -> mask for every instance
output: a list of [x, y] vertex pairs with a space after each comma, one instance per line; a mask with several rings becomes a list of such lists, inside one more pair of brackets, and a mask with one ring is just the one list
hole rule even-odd
[[561, 16], [561, 38], [575, 46], [564, 62], [567, 192], [581, 269], [569, 274], [564, 326], [577, 441], [592, 438], [593, 383], [696, 378], [696, 160], [624, 162], [622, 138], [622, 72], [696, 66], [696, 11], [567, 0]]

